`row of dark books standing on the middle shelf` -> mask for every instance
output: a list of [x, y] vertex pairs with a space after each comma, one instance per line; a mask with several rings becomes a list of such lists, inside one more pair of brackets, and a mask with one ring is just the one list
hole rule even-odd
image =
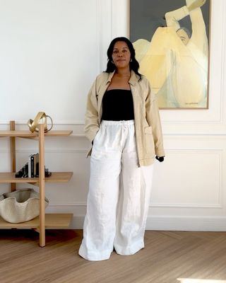
[[[39, 154], [30, 154], [28, 162], [25, 163], [18, 172], [16, 172], [16, 178], [38, 178], [40, 167], [39, 167]], [[52, 173], [49, 172], [49, 169], [44, 168], [44, 176], [49, 177]]]

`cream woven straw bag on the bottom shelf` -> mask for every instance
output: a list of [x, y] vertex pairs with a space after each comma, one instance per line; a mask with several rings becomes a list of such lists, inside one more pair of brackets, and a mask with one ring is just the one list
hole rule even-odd
[[[45, 207], [49, 200], [45, 198]], [[34, 219], [40, 214], [40, 194], [33, 189], [15, 190], [0, 196], [0, 215], [11, 223]]]

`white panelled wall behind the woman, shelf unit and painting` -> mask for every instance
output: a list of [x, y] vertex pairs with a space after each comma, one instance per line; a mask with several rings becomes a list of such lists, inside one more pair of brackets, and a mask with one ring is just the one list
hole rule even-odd
[[[45, 162], [73, 171], [69, 183], [46, 190], [47, 212], [73, 212], [71, 228], [82, 228], [88, 193], [87, 92], [105, 69], [110, 40], [128, 36], [128, 2], [0, 0], [0, 129], [9, 120], [26, 129], [40, 110], [55, 129], [73, 129], [46, 139]], [[210, 108], [160, 111], [167, 157], [155, 163], [147, 229], [226, 231], [225, 16], [225, 1], [212, 0]], [[36, 151], [37, 141], [18, 139], [17, 168]], [[8, 139], [0, 139], [0, 156], [8, 171]]]

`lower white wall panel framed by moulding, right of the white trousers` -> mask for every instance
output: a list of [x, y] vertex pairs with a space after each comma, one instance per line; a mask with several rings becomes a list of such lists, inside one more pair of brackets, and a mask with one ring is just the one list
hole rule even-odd
[[154, 178], [152, 206], [222, 207], [222, 169], [222, 151], [167, 151]]

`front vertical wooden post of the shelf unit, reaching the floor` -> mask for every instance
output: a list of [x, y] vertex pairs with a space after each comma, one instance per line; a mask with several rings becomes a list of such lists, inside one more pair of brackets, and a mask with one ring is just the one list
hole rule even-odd
[[40, 247], [45, 246], [45, 217], [44, 217], [44, 124], [39, 125], [39, 185], [40, 185]]

